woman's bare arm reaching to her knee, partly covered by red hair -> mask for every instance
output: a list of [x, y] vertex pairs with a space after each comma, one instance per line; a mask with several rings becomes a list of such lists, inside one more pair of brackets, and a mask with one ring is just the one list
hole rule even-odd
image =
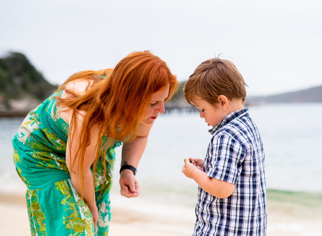
[[[76, 152], [79, 147], [78, 141], [81, 133], [82, 118], [82, 114], [76, 113], [77, 127], [74, 125], [73, 130], [70, 130], [66, 148], [66, 165], [71, 175], [71, 183], [79, 194], [81, 194], [80, 155], [76, 156]], [[74, 130], [75, 132], [73, 132]], [[90, 145], [86, 149], [83, 164], [81, 166], [83, 169], [83, 198], [92, 213], [94, 226], [96, 226], [98, 220], [98, 209], [95, 201], [93, 175], [90, 171], [90, 166], [93, 164], [97, 152], [98, 133], [99, 127], [97, 125], [90, 132]], [[72, 134], [73, 136], [71, 137]], [[72, 146], [69, 145], [69, 140], [71, 138], [73, 139]]]

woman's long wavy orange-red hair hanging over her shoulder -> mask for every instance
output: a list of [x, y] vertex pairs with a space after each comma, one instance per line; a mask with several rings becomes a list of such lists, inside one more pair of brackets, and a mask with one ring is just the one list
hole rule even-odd
[[[102, 79], [103, 78], [103, 79]], [[89, 86], [82, 94], [67, 89], [66, 85], [75, 80], [88, 80]], [[86, 70], [75, 73], [63, 83], [58, 91], [64, 89], [71, 96], [57, 97], [57, 104], [72, 109], [70, 130], [75, 131], [76, 113], [85, 111], [81, 134], [78, 140], [79, 171], [81, 195], [83, 195], [83, 162], [86, 148], [90, 144], [90, 130], [99, 125], [98, 151], [93, 163], [93, 177], [99, 159], [104, 166], [106, 177], [105, 153], [117, 141], [132, 141], [140, 130], [140, 121], [147, 112], [151, 95], [170, 85], [166, 98], [168, 101], [176, 92], [179, 82], [171, 74], [166, 62], [150, 51], [132, 52], [123, 58], [115, 68], [105, 70]], [[70, 133], [69, 135], [73, 135]], [[102, 141], [103, 136], [107, 141]], [[106, 140], [106, 139], [105, 139]], [[69, 139], [71, 147], [73, 139]], [[70, 149], [71, 155], [71, 149]], [[74, 159], [71, 166], [75, 164]]]

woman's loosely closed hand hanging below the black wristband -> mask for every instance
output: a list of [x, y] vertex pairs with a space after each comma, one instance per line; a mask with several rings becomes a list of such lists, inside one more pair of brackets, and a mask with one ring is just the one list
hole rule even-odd
[[137, 197], [140, 193], [140, 186], [132, 170], [125, 169], [120, 177], [121, 195], [125, 197]]

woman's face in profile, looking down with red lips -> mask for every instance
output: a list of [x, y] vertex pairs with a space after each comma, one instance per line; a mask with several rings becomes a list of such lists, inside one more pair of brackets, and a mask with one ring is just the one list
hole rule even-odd
[[170, 86], [167, 85], [164, 89], [152, 94], [149, 107], [145, 117], [142, 117], [141, 123], [153, 124], [159, 113], [164, 113], [164, 100], [169, 94]]

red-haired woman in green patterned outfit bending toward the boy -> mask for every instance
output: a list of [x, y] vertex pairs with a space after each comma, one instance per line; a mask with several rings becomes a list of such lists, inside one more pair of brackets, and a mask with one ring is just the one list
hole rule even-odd
[[27, 115], [13, 146], [32, 235], [107, 235], [115, 147], [123, 142], [121, 195], [136, 197], [148, 133], [177, 87], [164, 61], [134, 52], [72, 75]]

